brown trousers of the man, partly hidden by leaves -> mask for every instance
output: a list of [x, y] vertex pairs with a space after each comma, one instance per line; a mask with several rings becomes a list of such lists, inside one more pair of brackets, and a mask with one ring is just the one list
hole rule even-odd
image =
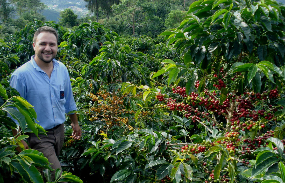
[[51, 173], [51, 178], [54, 180], [56, 169], [61, 170], [60, 162], [58, 161], [59, 153], [62, 149], [64, 142], [64, 124], [60, 124], [53, 129], [46, 130], [48, 131], [46, 135], [39, 134], [38, 137], [31, 133], [28, 138], [28, 143], [30, 144], [31, 149], [36, 149], [44, 154], [44, 157], [48, 159], [54, 169]]

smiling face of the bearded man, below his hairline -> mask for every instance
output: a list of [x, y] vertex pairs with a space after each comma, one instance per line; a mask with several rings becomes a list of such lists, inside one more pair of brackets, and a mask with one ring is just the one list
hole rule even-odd
[[35, 60], [50, 63], [57, 54], [56, 36], [50, 32], [41, 32], [33, 43]]

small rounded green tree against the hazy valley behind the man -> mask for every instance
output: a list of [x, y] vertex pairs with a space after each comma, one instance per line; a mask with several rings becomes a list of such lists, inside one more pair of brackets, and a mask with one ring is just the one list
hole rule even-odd
[[60, 22], [59, 24], [65, 27], [73, 27], [77, 24], [77, 15], [74, 14], [72, 9], [67, 8], [64, 11], [60, 12]]

